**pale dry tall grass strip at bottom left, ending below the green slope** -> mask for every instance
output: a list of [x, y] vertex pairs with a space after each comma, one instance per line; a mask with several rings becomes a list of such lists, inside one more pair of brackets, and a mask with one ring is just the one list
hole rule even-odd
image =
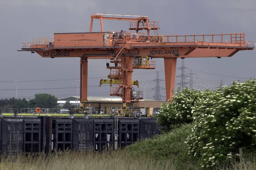
[[174, 170], [168, 161], [146, 156], [132, 157], [121, 151], [104, 153], [65, 152], [46, 156], [17, 156], [1, 159], [0, 170]]

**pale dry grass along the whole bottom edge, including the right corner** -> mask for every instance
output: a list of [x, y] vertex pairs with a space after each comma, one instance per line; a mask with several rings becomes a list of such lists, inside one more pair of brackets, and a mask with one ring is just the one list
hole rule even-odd
[[[94, 154], [67, 152], [46, 156], [18, 156], [0, 161], [0, 170], [176, 170], [182, 162], [177, 162], [173, 156], [168, 160], [155, 160], [152, 155], [131, 156], [131, 153], [118, 151], [112, 153]], [[193, 162], [183, 162], [187, 168], [182, 170], [197, 170]], [[255, 157], [239, 162], [226, 162], [226, 167], [219, 165], [216, 170], [256, 170]], [[215, 169], [214, 169], [215, 170]]]

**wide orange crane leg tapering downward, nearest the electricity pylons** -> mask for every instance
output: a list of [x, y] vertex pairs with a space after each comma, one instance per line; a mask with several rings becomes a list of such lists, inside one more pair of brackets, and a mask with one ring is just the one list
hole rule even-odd
[[175, 74], [176, 74], [177, 58], [165, 58], [164, 59], [164, 71], [166, 79], [166, 100], [172, 101], [174, 86], [175, 86]]

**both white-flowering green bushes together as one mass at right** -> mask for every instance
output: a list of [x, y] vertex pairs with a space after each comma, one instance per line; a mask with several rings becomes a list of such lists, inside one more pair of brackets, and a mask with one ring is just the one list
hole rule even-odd
[[158, 124], [166, 131], [173, 125], [193, 122], [185, 143], [200, 168], [215, 167], [228, 159], [241, 160], [256, 153], [256, 79], [233, 82], [217, 91], [178, 91], [170, 105], [160, 109]]

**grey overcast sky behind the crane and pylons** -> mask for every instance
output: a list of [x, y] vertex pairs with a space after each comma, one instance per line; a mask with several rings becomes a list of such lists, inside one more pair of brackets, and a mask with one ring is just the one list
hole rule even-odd
[[[151, 21], [160, 21], [160, 34], [245, 33], [245, 40], [256, 40], [255, 0], [0, 0], [0, 98], [16, 96], [15, 80], [30, 81], [18, 83], [18, 97], [33, 98], [36, 93], [50, 93], [58, 98], [76, 96], [79, 58], [42, 58], [36, 53], [17, 50], [21, 48], [21, 42], [32, 42], [33, 37], [81, 32], [81, 24], [85, 32], [89, 31], [90, 15], [94, 12], [148, 15]], [[126, 21], [105, 20], [104, 29], [128, 31], [128, 24]], [[93, 31], [99, 30], [97, 21]], [[197, 74], [193, 80], [199, 82], [199, 88], [213, 89], [219, 86], [221, 79], [230, 83], [256, 77], [255, 54], [256, 50], [239, 51], [231, 58], [185, 59], [185, 66]], [[160, 78], [165, 79], [163, 59], [155, 61], [155, 70], [135, 70], [133, 75], [133, 79], [140, 82], [142, 91], [142, 82], [148, 81], [146, 98], [154, 96], [150, 89], [155, 86], [152, 81], [156, 77], [155, 71], [160, 71]], [[177, 68], [180, 65], [181, 59], [178, 59]], [[108, 74], [106, 59], [89, 60], [88, 96], [109, 96], [109, 85], [97, 87], [99, 80], [107, 79]], [[176, 75], [179, 74], [177, 70]], [[63, 79], [67, 80], [34, 81]], [[176, 78], [176, 83], [179, 81]], [[161, 87], [165, 87], [164, 82]], [[194, 87], [198, 88], [198, 84]], [[161, 94], [165, 96], [165, 91]]]

